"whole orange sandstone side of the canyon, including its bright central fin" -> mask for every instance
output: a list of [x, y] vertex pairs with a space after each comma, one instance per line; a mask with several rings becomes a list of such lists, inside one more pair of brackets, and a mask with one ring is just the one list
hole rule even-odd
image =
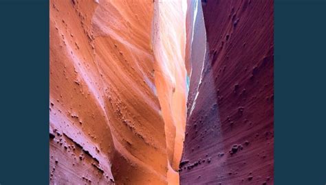
[[184, 1], [50, 0], [50, 184], [177, 184]]

